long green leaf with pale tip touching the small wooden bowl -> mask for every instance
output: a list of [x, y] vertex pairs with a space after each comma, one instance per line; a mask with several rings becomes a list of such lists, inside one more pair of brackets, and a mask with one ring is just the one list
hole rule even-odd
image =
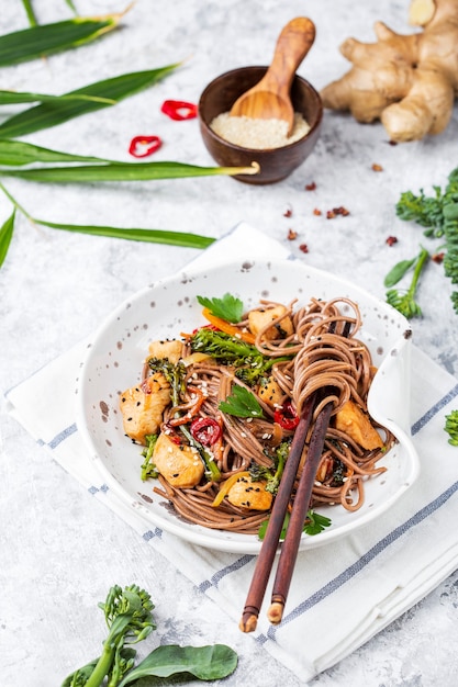
[[252, 167], [199, 167], [183, 162], [109, 162], [78, 167], [0, 169], [0, 176], [52, 183], [88, 183], [94, 181], [152, 181], [155, 179], [182, 179], [217, 174], [256, 174], [258, 171], [259, 165], [256, 162], [253, 162]]

